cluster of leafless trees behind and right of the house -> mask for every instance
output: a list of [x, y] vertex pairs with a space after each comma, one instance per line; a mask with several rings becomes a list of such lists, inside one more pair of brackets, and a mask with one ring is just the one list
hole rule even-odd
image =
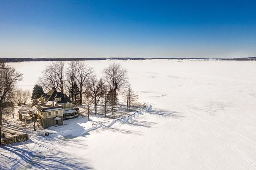
[[93, 69], [82, 61], [71, 61], [66, 68], [64, 68], [63, 61], [58, 61], [46, 67], [40, 78], [40, 85], [44, 89], [54, 87], [63, 93], [68, 93], [75, 105], [85, 103], [88, 117], [92, 112], [91, 105], [94, 106], [94, 112], [97, 113], [100, 101], [104, 104], [105, 116], [108, 106], [114, 114], [118, 97], [123, 88], [126, 89], [127, 107], [130, 108], [136, 95], [131, 86], [126, 85], [128, 83], [127, 70], [120, 64], [113, 63], [104, 68], [102, 73], [104, 77], [97, 79]]

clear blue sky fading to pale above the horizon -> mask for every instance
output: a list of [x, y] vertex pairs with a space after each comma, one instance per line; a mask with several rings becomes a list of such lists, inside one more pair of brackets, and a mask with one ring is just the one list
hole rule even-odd
[[256, 0], [0, 0], [0, 57], [252, 57]]

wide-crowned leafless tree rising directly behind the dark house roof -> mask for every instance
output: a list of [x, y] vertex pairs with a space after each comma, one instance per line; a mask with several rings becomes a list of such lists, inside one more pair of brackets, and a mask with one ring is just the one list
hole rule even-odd
[[39, 83], [44, 89], [55, 88], [63, 93], [64, 91], [64, 62], [56, 61], [42, 71], [43, 76], [39, 78]]

